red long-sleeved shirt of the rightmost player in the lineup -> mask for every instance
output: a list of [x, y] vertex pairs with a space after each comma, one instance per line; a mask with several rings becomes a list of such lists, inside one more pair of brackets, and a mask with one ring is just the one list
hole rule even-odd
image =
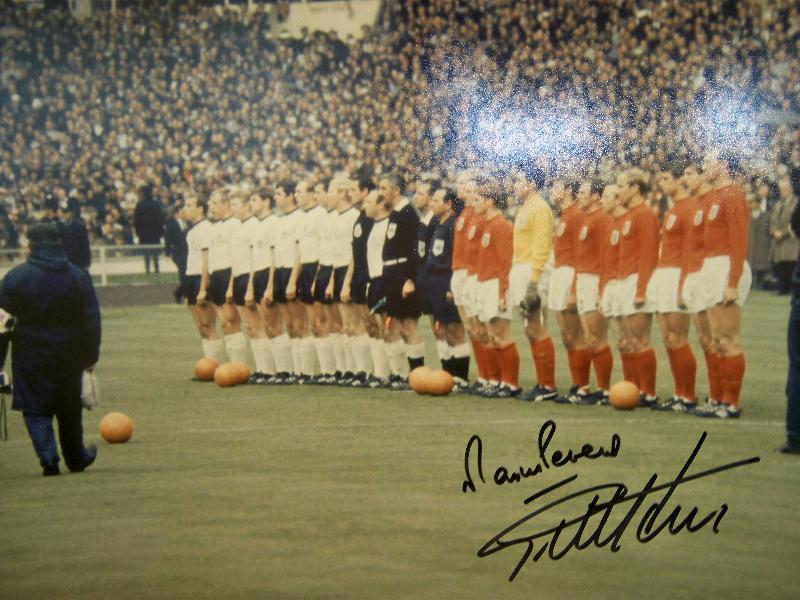
[[728, 287], [739, 285], [747, 256], [747, 233], [750, 214], [744, 190], [731, 184], [708, 193], [704, 235], [706, 257], [729, 256], [731, 270]]

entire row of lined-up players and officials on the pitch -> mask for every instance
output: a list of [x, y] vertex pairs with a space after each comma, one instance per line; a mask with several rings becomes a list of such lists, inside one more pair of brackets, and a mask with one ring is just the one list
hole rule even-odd
[[[417, 325], [428, 314], [458, 391], [605, 404], [613, 324], [623, 377], [639, 387], [642, 406], [738, 417], [750, 271], [749, 215], [735, 170], [709, 156], [702, 169], [660, 173], [655, 185], [671, 199], [662, 223], [645, 201], [649, 177], [635, 169], [613, 184], [553, 181], [557, 219], [544, 185], [535, 169], [505, 182], [464, 173], [450, 186], [418, 182], [413, 205], [391, 175], [282, 181], [274, 191], [225, 187], [208, 199], [187, 192], [188, 303], [204, 355], [221, 362], [227, 350], [246, 362], [249, 339], [252, 383], [404, 390], [409, 369], [424, 361]], [[527, 392], [511, 337], [516, 306], [536, 372]], [[545, 309], [555, 314], [569, 363], [562, 396]], [[653, 315], [674, 380], [663, 402]], [[692, 322], [709, 381], [699, 405]], [[472, 385], [470, 346], [479, 374]]]

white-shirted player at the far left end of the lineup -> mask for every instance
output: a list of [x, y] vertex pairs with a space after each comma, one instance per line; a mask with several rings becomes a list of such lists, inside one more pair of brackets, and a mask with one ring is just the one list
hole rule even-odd
[[214, 307], [206, 302], [197, 302], [201, 281], [208, 279], [208, 249], [213, 237], [212, 225], [206, 218], [208, 203], [193, 191], [187, 192], [182, 213], [183, 218], [191, 224], [186, 234], [189, 249], [186, 257], [186, 303], [202, 339], [203, 356], [222, 363], [225, 352], [222, 340], [217, 335]]

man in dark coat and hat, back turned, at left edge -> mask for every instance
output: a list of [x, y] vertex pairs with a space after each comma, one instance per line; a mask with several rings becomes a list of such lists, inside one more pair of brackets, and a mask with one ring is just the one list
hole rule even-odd
[[67, 260], [55, 224], [32, 226], [28, 240], [28, 260], [0, 282], [0, 367], [10, 342], [11, 407], [22, 412], [44, 474], [59, 474], [54, 416], [67, 468], [83, 471], [97, 455], [83, 445], [81, 379], [100, 353], [100, 309], [92, 280]]

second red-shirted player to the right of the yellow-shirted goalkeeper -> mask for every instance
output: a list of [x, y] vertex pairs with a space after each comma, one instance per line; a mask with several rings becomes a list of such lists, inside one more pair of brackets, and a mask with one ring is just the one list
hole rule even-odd
[[579, 395], [577, 400], [581, 404], [608, 403], [614, 366], [608, 345], [608, 320], [600, 311], [600, 276], [614, 221], [600, 202], [604, 189], [605, 184], [599, 179], [585, 181], [578, 189], [578, 206], [584, 216], [575, 245], [575, 289], [578, 314], [598, 387], [593, 394]]

